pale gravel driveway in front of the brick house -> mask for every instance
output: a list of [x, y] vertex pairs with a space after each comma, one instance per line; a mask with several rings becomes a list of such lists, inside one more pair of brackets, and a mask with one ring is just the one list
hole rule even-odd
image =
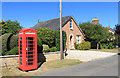
[[66, 59], [79, 59], [80, 61], [88, 62], [95, 59], [106, 58], [117, 53], [108, 53], [100, 51], [80, 51], [80, 50], [69, 50]]

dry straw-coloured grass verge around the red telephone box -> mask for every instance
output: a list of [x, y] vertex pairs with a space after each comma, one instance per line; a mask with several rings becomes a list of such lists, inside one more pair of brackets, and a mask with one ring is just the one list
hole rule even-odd
[[47, 71], [57, 70], [60, 68], [66, 68], [72, 65], [80, 64], [82, 63], [79, 60], [72, 60], [72, 59], [64, 59], [62, 61], [60, 60], [51, 60], [47, 61], [42, 64], [40, 68], [34, 71], [24, 72], [18, 69], [17, 66], [8, 66], [2, 68], [2, 75], [3, 76], [34, 76], [37, 74], [41, 74]]

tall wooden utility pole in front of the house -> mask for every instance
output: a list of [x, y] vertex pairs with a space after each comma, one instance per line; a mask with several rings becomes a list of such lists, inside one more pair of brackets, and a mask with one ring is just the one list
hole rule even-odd
[[64, 59], [63, 56], [63, 38], [62, 38], [62, 5], [60, 0], [60, 60]]

